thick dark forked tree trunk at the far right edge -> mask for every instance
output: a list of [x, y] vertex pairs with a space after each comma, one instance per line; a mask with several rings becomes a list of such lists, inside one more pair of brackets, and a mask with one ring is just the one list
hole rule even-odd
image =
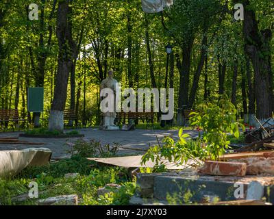
[[271, 70], [271, 29], [258, 29], [256, 14], [249, 8], [249, 0], [244, 1], [245, 52], [254, 69], [256, 115], [260, 120], [269, 118], [273, 112], [273, 84]]

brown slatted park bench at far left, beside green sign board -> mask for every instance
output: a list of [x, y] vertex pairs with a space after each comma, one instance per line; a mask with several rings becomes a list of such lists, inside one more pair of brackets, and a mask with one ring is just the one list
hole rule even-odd
[[[14, 124], [17, 124], [21, 121], [25, 121], [24, 118], [21, 118], [19, 116], [18, 110], [0, 110], [0, 123], [1, 127], [7, 127], [8, 123], [14, 122]], [[19, 126], [18, 126], [19, 127]], [[12, 129], [14, 131], [14, 126], [12, 126]]]

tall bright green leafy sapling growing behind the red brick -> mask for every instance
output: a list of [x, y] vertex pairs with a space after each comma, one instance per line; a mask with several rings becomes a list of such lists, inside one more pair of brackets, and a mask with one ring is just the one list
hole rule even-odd
[[227, 132], [239, 138], [239, 126], [245, 130], [245, 126], [236, 121], [237, 110], [235, 106], [221, 96], [216, 103], [203, 103], [198, 106], [198, 112], [192, 112], [190, 121], [203, 129], [203, 141], [207, 144], [206, 151], [210, 159], [218, 159], [229, 149]]

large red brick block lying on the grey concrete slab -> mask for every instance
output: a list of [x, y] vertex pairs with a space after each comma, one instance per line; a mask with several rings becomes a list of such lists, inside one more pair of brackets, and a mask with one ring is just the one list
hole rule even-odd
[[243, 162], [206, 161], [199, 169], [199, 172], [206, 175], [216, 176], [245, 176], [247, 172], [247, 164]]

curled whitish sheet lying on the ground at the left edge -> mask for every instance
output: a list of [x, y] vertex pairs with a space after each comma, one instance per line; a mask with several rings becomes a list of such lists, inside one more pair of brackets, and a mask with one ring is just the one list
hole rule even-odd
[[49, 164], [51, 150], [30, 148], [24, 150], [0, 151], [0, 177], [11, 177], [27, 166]]

